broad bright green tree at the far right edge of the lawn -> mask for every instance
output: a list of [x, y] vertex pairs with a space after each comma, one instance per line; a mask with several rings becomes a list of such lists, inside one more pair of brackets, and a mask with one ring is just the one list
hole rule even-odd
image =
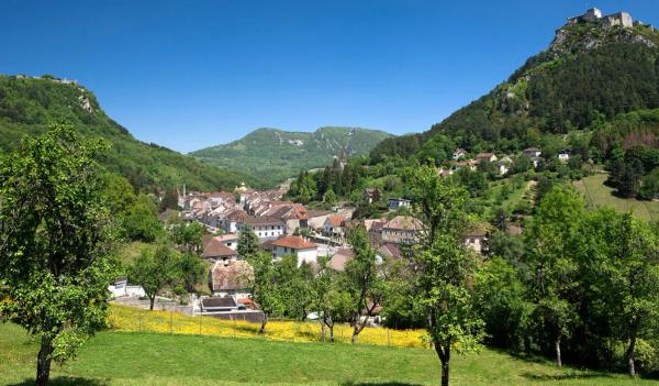
[[587, 241], [581, 261], [590, 288], [617, 339], [627, 342], [625, 361], [636, 374], [639, 338], [659, 331], [659, 242], [648, 223], [632, 213], [601, 209], [580, 232]]

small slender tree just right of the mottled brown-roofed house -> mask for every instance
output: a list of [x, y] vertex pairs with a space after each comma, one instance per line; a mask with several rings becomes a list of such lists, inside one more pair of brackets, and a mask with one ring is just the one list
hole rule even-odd
[[272, 264], [272, 256], [266, 252], [247, 255], [247, 258], [254, 269], [254, 275], [249, 278], [252, 300], [264, 312], [264, 320], [259, 329], [259, 333], [263, 334], [266, 333], [268, 318], [283, 309], [279, 297], [277, 272]]

